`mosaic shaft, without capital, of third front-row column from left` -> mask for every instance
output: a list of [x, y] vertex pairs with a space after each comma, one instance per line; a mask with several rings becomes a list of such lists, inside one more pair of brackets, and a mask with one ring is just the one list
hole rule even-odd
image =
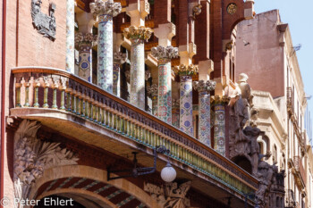
[[145, 109], [145, 45], [131, 39], [131, 104]]

